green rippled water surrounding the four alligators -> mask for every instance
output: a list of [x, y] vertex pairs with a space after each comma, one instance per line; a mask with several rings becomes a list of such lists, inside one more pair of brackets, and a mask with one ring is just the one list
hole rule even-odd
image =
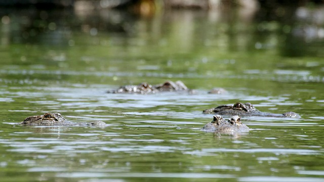
[[[323, 39], [287, 31], [300, 26], [200, 11], [13, 10], [9, 18], [2, 181], [324, 181]], [[105, 93], [169, 79], [198, 94]], [[207, 94], [213, 87], [228, 93]], [[252, 130], [234, 136], [199, 131], [213, 117], [204, 109], [237, 101], [302, 118], [242, 118]], [[45, 112], [107, 127], [15, 125]]]

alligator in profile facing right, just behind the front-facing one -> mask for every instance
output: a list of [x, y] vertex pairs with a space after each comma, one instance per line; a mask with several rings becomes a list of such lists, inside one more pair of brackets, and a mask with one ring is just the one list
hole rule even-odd
[[235, 103], [233, 106], [218, 106], [212, 109], [206, 109], [204, 114], [220, 114], [227, 116], [262, 116], [262, 117], [288, 117], [300, 118], [300, 115], [294, 112], [286, 112], [284, 114], [266, 113], [257, 110], [251, 103]]

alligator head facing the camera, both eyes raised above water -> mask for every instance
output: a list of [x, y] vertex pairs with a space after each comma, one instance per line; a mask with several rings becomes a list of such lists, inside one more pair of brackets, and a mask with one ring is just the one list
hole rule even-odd
[[221, 115], [215, 115], [213, 121], [206, 124], [200, 130], [220, 134], [238, 134], [240, 132], [248, 132], [250, 128], [240, 121], [239, 116], [235, 115], [226, 121]]

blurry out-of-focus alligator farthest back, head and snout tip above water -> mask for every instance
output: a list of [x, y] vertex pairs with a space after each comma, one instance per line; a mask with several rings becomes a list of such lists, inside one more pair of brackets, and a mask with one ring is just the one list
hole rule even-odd
[[[147, 82], [140, 83], [138, 85], [125, 85], [120, 86], [117, 89], [108, 90], [109, 94], [123, 94], [123, 93], [134, 93], [134, 94], [152, 94], [159, 92], [179, 92], [186, 91], [189, 94], [196, 94], [196, 90], [189, 89], [182, 81], [178, 80], [176, 82], [166, 81], [164, 83], [151, 85]], [[227, 91], [223, 88], [213, 88], [208, 94], [224, 94]]]

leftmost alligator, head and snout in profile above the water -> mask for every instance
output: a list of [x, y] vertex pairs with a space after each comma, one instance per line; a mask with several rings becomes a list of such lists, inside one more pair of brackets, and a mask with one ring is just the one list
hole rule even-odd
[[45, 113], [39, 116], [29, 116], [19, 124], [27, 126], [106, 126], [106, 123], [103, 121], [92, 121], [88, 123], [70, 122], [67, 121], [60, 113]]

